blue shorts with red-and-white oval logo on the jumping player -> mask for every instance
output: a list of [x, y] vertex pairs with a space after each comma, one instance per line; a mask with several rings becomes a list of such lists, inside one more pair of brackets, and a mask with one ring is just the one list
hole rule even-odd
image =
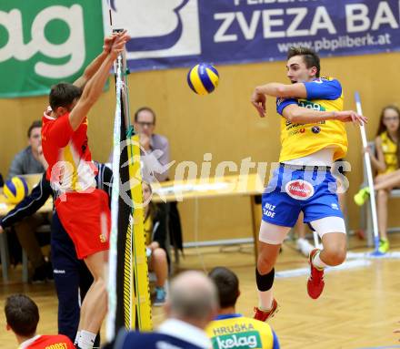
[[325, 217], [343, 218], [336, 180], [329, 169], [280, 164], [262, 198], [263, 221], [294, 227], [300, 211], [305, 223]]

